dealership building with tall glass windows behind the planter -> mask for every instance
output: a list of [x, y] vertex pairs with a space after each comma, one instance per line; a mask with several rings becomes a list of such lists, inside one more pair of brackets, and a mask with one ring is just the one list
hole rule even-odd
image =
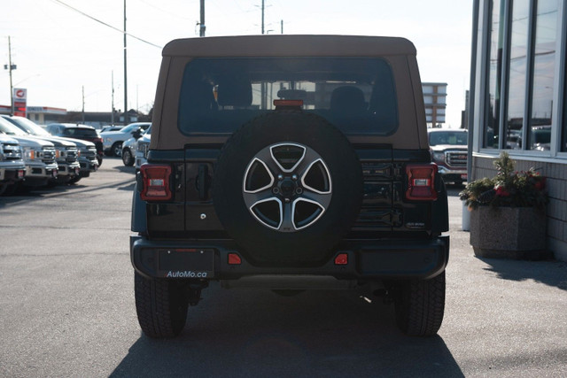
[[567, 261], [567, 6], [563, 0], [475, 0], [470, 72], [472, 180], [517, 170], [548, 177], [548, 250]]

